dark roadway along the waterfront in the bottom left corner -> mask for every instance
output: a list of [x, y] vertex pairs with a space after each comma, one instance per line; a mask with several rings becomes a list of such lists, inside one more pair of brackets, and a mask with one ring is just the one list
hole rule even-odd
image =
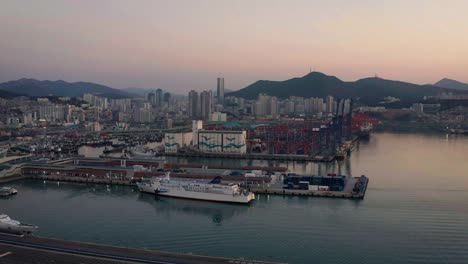
[[112, 247], [43, 237], [14, 236], [0, 233], [0, 263], [269, 264], [272, 262]]

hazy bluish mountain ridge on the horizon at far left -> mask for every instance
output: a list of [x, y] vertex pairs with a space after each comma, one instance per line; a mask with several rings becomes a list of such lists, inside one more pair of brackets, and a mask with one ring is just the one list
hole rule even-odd
[[133, 97], [123, 90], [91, 82], [39, 81], [35, 79], [19, 79], [0, 83], [0, 91], [26, 96], [68, 96], [78, 97], [85, 93], [101, 94], [109, 98]]

